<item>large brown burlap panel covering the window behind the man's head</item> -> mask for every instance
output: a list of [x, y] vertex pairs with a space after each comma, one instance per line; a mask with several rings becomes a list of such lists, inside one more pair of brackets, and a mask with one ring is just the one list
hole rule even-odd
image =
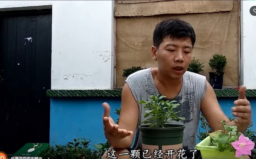
[[[238, 3], [234, 3], [238, 7]], [[132, 66], [148, 68], [157, 66], [152, 60], [151, 46], [153, 31], [157, 23], [166, 18], [180, 18], [188, 21], [195, 30], [196, 43], [192, 56], [204, 63], [202, 73], [209, 79], [208, 64], [215, 53], [227, 58], [223, 86], [238, 85], [238, 9], [231, 12], [169, 14], [143, 18], [116, 17], [116, 82], [122, 87], [125, 78], [123, 69]]]

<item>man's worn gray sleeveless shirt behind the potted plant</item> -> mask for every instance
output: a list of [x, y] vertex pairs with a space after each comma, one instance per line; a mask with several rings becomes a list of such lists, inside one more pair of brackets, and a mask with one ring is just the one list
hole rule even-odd
[[[153, 81], [151, 68], [137, 71], [125, 80], [129, 85], [131, 92], [139, 106], [139, 120], [137, 124], [136, 134], [134, 138], [133, 149], [142, 150], [141, 135], [138, 126], [146, 120], [144, 118], [145, 110], [139, 102], [141, 100], [147, 101], [151, 95], [160, 94]], [[174, 124], [185, 125], [183, 135], [183, 148], [185, 150], [195, 149], [197, 129], [200, 116], [200, 103], [204, 97], [206, 90], [206, 77], [200, 74], [186, 71], [183, 75], [183, 83], [181, 91], [175, 99], [181, 106], [176, 108], [176, 111], [181, 110], [180, 117], [184, 117], [186, 120], [174, 121]], [[167, 100], [167, 99], [165, 99]], [[147, 117], [149, 118], [149, 117]]]

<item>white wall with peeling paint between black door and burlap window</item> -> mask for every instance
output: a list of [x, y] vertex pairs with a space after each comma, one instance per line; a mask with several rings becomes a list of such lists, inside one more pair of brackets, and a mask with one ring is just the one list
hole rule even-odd
[[112, 1], [0, 1], [1, 10], [42, 5], [52, 5], [51, 89], [111, 89]]

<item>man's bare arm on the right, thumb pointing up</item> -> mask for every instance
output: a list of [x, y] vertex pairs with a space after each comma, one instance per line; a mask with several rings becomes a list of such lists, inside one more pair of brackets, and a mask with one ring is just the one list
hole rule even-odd
[[230, 126], [237, 126], [237, 132], [244, 133], [251, 123], [251, 106], [250, 102], [245, 97], [246, 87], [242, 86], [239, 90], [239, 99], [234, 101], [235, 107], [232, 108], [233, 116], [237, 119], [230, 121], [217, 101], [217, 97], [212, 86], [207, 81], [205, 96], [201, 102], [201, 111], [205, 116], [209, 126], [214, 130], [221, 129], [221, 121], [225, 120]]

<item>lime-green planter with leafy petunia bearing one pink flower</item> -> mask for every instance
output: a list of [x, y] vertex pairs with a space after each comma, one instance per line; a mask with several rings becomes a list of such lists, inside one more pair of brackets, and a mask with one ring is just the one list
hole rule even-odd
[[209, 133], [204, 140], [196, 145], [202, 159], [243, 159], [251, 155], [255, 143], [241, 132], [236, 133], [237, 126], [229, 126], [221, 121], [224, 131]]

